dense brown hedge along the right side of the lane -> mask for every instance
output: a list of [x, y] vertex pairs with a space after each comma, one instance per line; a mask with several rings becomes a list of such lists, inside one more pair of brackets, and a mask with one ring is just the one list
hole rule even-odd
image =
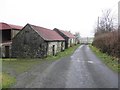
[[120, 31], [116, 30], [98, 35], [92, 44], [103, 53], [120, 58]]

